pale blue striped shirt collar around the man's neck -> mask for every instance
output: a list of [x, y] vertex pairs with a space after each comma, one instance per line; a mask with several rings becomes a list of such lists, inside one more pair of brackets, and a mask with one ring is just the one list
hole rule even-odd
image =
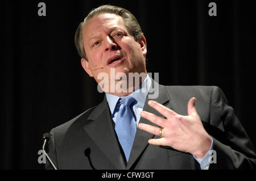
[[[141, 108], [144, 107], [148, 91], [150, 90], [150, 86], [151, 86], [151, 79], [147, 74], [147, 77], [141, 83], [141, 85], [139, 86], [139, 89], [131, 92], [131, 94], [130, 94], [130, 96], [132, 96], [134, 99], [137, 100], [137, 102], [138, 102], [137, 104]], [[112, 114], [114, 112], [115, 106], [117, 105], [119, 98], [123, 98], [123, 97], [119, 97], [117, 95], [106, 93], [106, 99], [108, 101], [109, 108], [110, 108], [110, 111]]]

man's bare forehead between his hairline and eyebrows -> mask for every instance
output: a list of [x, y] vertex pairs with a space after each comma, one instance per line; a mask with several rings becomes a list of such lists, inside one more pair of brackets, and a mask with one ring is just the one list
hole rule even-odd
[[91, 37], [98, 31], [109, 31], [114, 28], [125, 28], [122, 17], [116, 14], [100, 14], [86, 22], [82, 33]]

